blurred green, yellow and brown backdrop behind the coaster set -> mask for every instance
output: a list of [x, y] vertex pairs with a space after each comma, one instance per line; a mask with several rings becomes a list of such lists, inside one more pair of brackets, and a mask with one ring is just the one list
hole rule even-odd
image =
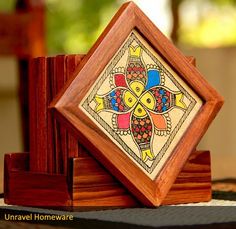
[[[37, 46], [26, 57], [19, 50], [7, 52], [1, 46], [7, 42], [4, 36], [10, 33], [11, 27], [4, 30], [6, 23], [0, 20], [0, 192], [4, 153], [28, 150], [28, 143], [24, 141], [29, 137], [27, 128], [24, 131], [22, 128], [27, 122], [24, 120], [22, 124], [22, 117], [27, 117], [27, 93], [22, 96], [27, 92], [27, 78], [22, 74], [27, 65], [25, 60], [29, 56], [86, 53], [124, 2], [0, 1], [0, 18], [36, 9], [35, 15], [39, 15], [40, 20], [37, 17], [31, 20], [40, 23], [34, 27], [41, 28], [40, 39], [30, 41], [30, 36], [24, 41], [35, 42]], [[198, 149], [211, 151], [213, 179], [236, 178], [236, 0], [134, 2], [185, 55], [196, 57], [200, 72], [225, 98], [224, 107]], [[14, 42], [17, 40], [19, 37], [15, 36]]]

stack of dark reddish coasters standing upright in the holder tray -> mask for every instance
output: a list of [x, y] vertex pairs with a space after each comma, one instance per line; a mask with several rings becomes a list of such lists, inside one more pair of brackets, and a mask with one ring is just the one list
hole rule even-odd
[[68, 157], [78, 154], [78, 140], [60, 125], [48, 106], [82, 58], [83, 55], [59, 55], [31, 61], [31, 171], [67, 174]]

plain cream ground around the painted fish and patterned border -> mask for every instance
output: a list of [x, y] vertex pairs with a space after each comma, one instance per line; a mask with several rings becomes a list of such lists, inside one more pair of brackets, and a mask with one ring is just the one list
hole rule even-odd
[[[174, 78], [176, 79], [176, 81], [178, 81], [180, 83], [180, 85], [182, 85], [182, 87], [197, 101], [196, 105], [194, 106], [194, 108], [192, 109], [192, 111], [190, 112], [190, 114], [188, 115], [188, 117], [185, 119], [185, 121], [183, 122], [182, 126], [180, 127], [179, 131], [177, 132], [177, 134], [175, 135], [173, 141], [171, 142], [171, 144], [169, 145], [169, 148], [166, 150], [164, 156], [162, 157], [162, 159], [159, 161], [159, 163], [156, 165], [156, 167], [154, 168], [154, 170], [152, 171], [152, 173], [148, 173], [132, 156], [130, 156], [124, 149], [123, 147], [112, 138], [112, 136], [107, 133], [107, 131], [82, 107], [82, 104], [84, 103], [85, 99], [90, 95], [90, 93], [92, 92], [93, 88], [95, 85], [97, 85], [99, 79], [102, 77], [102, 75], [104, 74], [104, 72], [106, 71], [107, 66], [110, 65], [112, 59], [110, 60], [110, 62], [107, 64], [107, 66], [104, 68], [103, 72], [100, 74], [100, 76], [98, 77], [98, 79], [95, 81], [94, 85], [90, 88], [90, 90], [87, 92], [86, 96], [84, 97], [84, 99], [81, 101], [81, 103], [79, 104], [80, 109], [82, 109], [85, 114], [132, 160], [135, 162], [135, 164], [150, 178], [150, 179], [155, 179], [156, 175], [158, 174], [158, 172], [161, 170], [161, 168], [163, 167], [164, 163], [167, 161], [168, 157], [170, 156], [171, 152], [173, 151], [173, 149], [175, 148], [175, 146], [178, 144], [179, 140], [181, 139], [181, 137], [183, 136], [183, 134], [185, 133], [186, 129], [188, 128], [188, 126], [190, 125], [191, 121], [193, 120], [193, 118], [195, 117], [196, 113], [198, 112], [198, 110], [200, 109], [200, 107], [202, 106], [202, 101], [201, 99], [189, 88], [189, 86], [167, 65], [167, 63], [151, 48], [151, 46], [138, 34], [138, 32], [136, 32], [135, 30], [132, 31], [137, 37], [138, 39], [141, 41], [141, 43], [162, 63], [162, 65], [174, 76]], [[130, 35], [127, 37], [127, 39], [125, 40], [125, 42], [123, 44], [125, 44], [127, 42], [127, 40], [129, 39]], [[137, 43], [134, 41], [132, 43], [133, 46], [136, 46]], [[123, 46], [123, 45], [122, 45]], [[121, 46], [121, 47], [122, 47]], [[120, 50], [117, 51], [117, 53]], [[117, 53], [114, 55], [114, 57], [117, 55]], [[118, 67], [126, 67], [126, 60], [128, 57], [128, 49], [126, 50], [125, 54], [123, 55], [123, 57], [118, 61], [118, 63], [114, 66], [114, 68], [118, 68]], [[145, 53], [144, 51], [142, 52], [142, 57], [143, 57], [143, 61], [145, 63], [145, 65], [147, 64], [154, 64], [153, 60], [148, 56], [147, 53]], [[101, 85], [101, 87], [99, 88], [97, 94], [99, 95], [104, 95], [106, 93], [108, 93], [109, 91], [111, 91], [111, 87], [109, 84], [109, 80], [110, 80], [110, 75], [107, 75], [106, 79], [104, 80], [103, 84]], [[165, 83], [164, 85], [166, 87], [168, 87], [170, 90], [172, 91], [179, 91], [179, 89], [174, 85], [174, 83], [171, 81], [171, 79], [169, 79], [166, 75], [165, 75]], [[185, 97], [184, 98], [184, 102], [186, 103], [186, 105], [188, 106], [190, 101]], [[94, 102], [90, 103], [90, 107], [94, 110], [95, 109], [96, 104]], [[184, 112], [179, 109], [179, 108], [174, 108], [172, 109], [169, 113], [169, 116], [171, 118], [171, 123], [172, 123], [172, 129], [173, 130], [175, 128], [175, 126], [177, 125], [177, 123], [179, 122], [179, 120], [181, 119], [182, 115], [184, 114]], [[98, 115], [112, 128], [112, 114], [111, 112], [100, 112]], [[119, 135], [120, 138], [122, 139], [122, 141], [124, 141], [129, 148], [132, 149], [132, 151], [138, 156], [140, 157], [139, 154], [139, 150], [136, 146], [136, 144], [134, 143], [131, 135]], [[169, 136], [157, 136], [155, 135], [153, 138], [153, 152], [155, 155], [157, 155], [160, 151], [160, 149], [162, 148], [162, 146], [165, 144], [165, 142], [167, 141], [167, 139], [169, 138]], [[148, 161], [148, 163], [146, 163], [148, 166], [151, 166], [152, 162]]]

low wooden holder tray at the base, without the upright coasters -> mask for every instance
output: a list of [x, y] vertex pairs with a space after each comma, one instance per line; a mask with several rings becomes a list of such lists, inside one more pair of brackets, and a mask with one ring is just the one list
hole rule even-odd
[[[41, 207], [142, 206], [106, 168], [85, 149], [70, 160], [70, 173], [36, 173], [29, 170], [29, 153], [5, 156], [4, 199], [7, 204]], [[203, 202], [211, 199], [211, 166], [208, 151], [193, 152], [162, 205]]]

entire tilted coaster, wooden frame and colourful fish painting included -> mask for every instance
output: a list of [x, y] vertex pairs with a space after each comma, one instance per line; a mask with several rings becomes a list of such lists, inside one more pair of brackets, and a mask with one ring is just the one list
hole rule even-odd
[[133, 3], [124, 4], [51, 107], [143, 204], [161, 204], [223, 104]]

